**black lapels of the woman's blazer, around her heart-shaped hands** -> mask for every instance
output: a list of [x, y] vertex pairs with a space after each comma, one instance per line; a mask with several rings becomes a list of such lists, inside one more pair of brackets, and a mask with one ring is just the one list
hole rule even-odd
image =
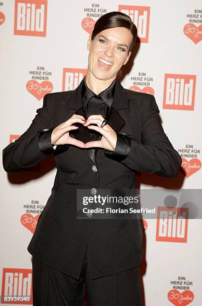
[[[84, 80], [80, 82], [80, 85], [72, 91], [71, 97], [68, 101], [67, 108], [75, 109], [75, 114], [79, 114], [85, 116], [85, 110], [83, 107], [82, 102], [82, 94], [81, 89], [83, 85]], [[128, 108], [128, 99], [126, 96], [126, 92], [120, 82], [116, 80], [116, 87], [115, 87], [115, 95], [114, 95], [114, 101], [112, 104], [112, 107], [110, 109], [110, 112], [108, 116], [106, 117], [107, 123], [115, 130], [115, 132], [119, 132], [125, 125], [125, 120], [121, 117], [118, 109], [124, 109]], [[68, 118], [66, 118], [67, 120]], [[75, 124], [76, 125], [76, 124]], [[91, 141], [89, 129], [86, 126], [83, 126], [81, 123], [77, 123], [79, 126], [76, 130], [71, 130], [69, 134], [71, 137], [74, 137], [84, 143]], [[100, 140], [102, 138], [102, 134], [98, 136], [97, 140]], [[94, 164], [96, 164], [96, 151], [98, 148], [86, 148], [84, 151], [89, 155], [90, 159], [93, 161]]]

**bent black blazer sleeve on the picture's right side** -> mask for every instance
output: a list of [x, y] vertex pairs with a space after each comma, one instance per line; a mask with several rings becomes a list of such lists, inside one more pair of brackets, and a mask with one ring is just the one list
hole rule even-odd
[[[133, 170], [176, 177], [182, 158], [164, 132], [155, 97], [150, 95], [150, 101], [143, 100], [141, 108], [141, 141], [130, 137], [129, 142], [128, 137], [130, 149], [126, 157], [119, 161]], [[120, 137], [117, 138], [115, 151], [104, 150], [106, 156], [117, 159], [116, 151], [120, 153], [123, 147], [127, 147], [124, 144], [126, 139], [122, 141]]]

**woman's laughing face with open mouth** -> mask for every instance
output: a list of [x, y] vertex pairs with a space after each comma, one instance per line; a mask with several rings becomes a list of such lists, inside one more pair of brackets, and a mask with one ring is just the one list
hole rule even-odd
[[131, 55], [133, 35], [126, 27], [113, 27], [88, 38], [88, 70], [98, 79], [114, 79]]

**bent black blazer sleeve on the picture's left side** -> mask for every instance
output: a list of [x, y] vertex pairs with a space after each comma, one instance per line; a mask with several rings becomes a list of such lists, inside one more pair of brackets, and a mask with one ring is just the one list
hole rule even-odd
[[54, 151], [51, 144], [54, 95], [48, 93], [43, 98], [43, 106], [28, 129], [2, 151], [3, 168], [6, 172], [19, 172], [32, 167]]

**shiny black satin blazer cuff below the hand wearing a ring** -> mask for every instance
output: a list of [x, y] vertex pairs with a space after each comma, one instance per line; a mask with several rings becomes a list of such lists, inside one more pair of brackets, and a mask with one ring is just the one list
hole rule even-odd
[[129, 137], [117, 133], [116, 147], [114, 151], [104, 149], [104, 154], [107, 157], [116, 159], [117, 161], [124, 160], [131, 149], [131, 140]]

